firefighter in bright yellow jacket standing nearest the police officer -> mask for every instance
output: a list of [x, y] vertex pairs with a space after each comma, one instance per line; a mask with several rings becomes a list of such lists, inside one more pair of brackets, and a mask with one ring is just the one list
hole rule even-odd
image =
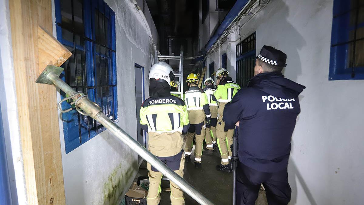
[[223, 110], [226, 103], [230, 102], [235, 94], [240, 89], [240, 86], [233, 81], [229, 76], [229, 71], [220, 67], [216, 70], [215, 76], [217, 79], [217, 89], [215, 90], [212, 100], [218, 101], [218, 115], [217, 115], [217, 145], [221, 155], [221, 165], [217, 165], [218, 171], [231, 172], [229, 159], [231, 159], [232, 152], [230, 145], [233, 144], [233, 134], [235, 126], [227, 126], [223, 121]]

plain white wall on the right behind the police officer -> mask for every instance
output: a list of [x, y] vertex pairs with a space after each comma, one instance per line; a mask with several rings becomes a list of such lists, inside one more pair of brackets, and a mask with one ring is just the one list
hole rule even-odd
[[[307, 87], [292, 136], [290, 204], [364, 201], [364, 80], [328, 81], [332, 6], [327, 0], [272, 0], [239, 33], [243, 40], [256, 31], [257, 53], [263, 45], [284, 51], [285, 76]], [[216, 55], [209, 62], [216, 62]]]

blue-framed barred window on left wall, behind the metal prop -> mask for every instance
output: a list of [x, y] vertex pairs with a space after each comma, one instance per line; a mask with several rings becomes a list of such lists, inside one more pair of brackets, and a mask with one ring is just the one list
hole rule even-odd
[[[57, 39], [73, 54], [62, 65], [62, 79], [117, 121], [115, 13], [102, 0], [55, 0], [55, 14]], [[62, 119], [66, 153], [105, 130], [74, 109], [63, 113]]]

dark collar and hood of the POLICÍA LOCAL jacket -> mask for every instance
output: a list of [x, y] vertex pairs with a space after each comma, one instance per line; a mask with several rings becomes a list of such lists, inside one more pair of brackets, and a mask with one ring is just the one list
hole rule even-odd
[[259, 89], [274, 97], [292, 99], [305, 89], [300, 85], [284, 77], [282, 73], [260, 73], [250, 79], [248, 87]]

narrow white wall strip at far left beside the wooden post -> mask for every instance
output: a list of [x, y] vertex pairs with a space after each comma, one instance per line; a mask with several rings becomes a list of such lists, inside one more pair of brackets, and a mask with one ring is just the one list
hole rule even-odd
[[20, 144], [8, 0], [0, 0], [0, 96], [12, 202], [28, 204]]

